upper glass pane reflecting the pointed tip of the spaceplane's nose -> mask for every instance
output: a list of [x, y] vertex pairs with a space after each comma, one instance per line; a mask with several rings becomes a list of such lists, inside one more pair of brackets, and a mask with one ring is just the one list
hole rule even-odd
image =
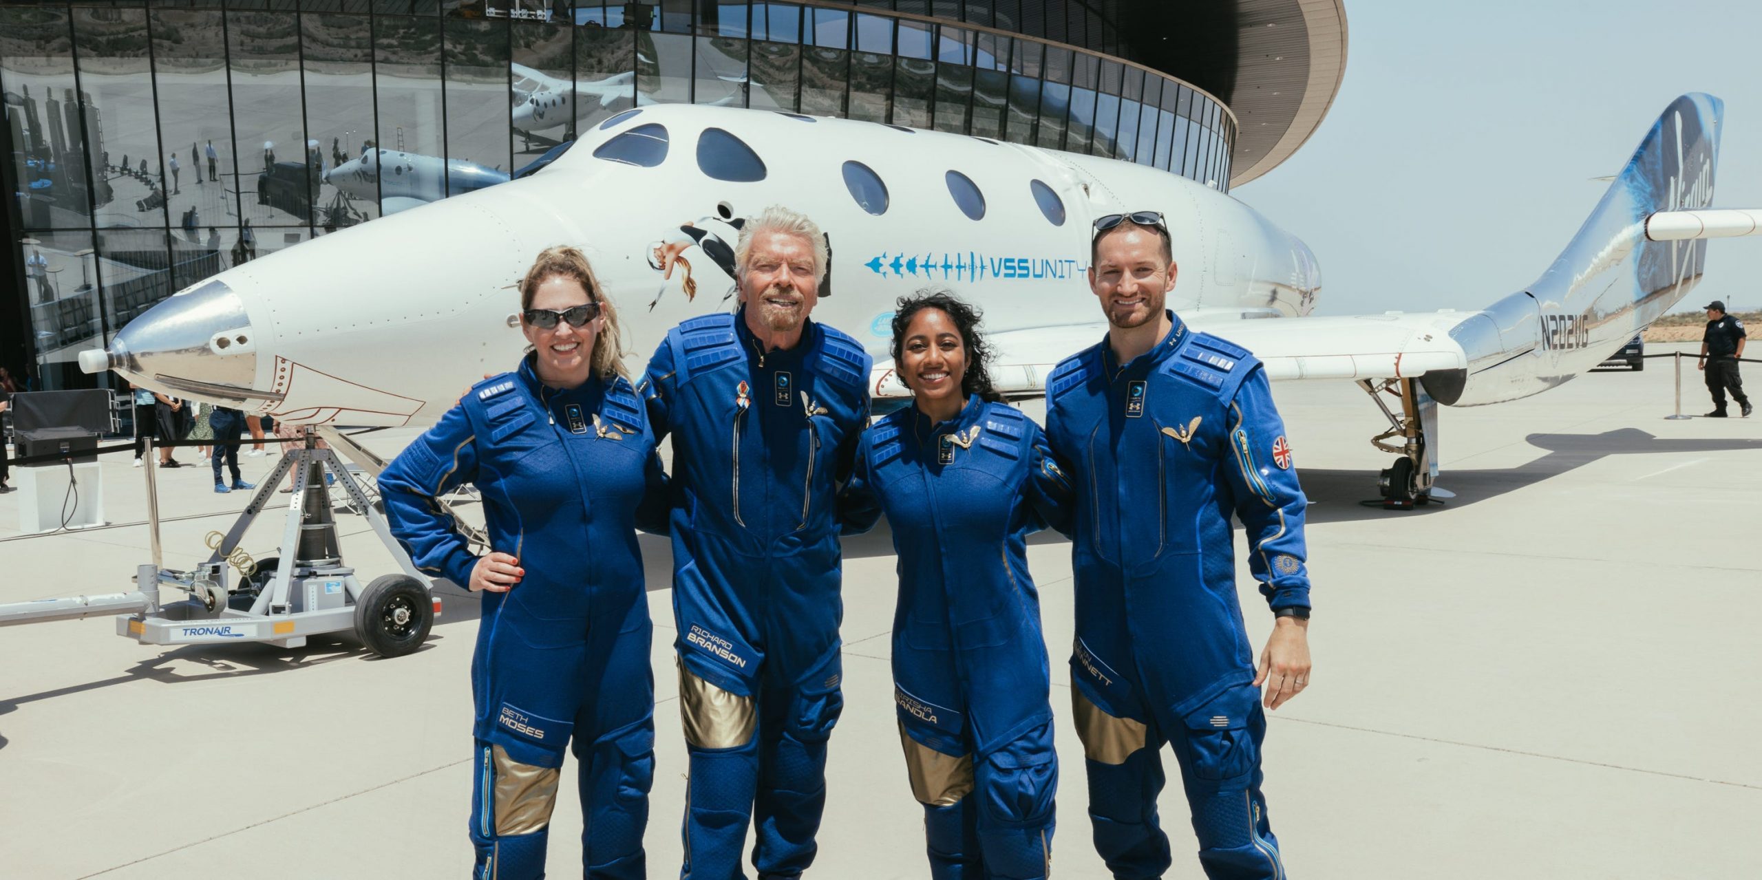
[[[358, 162], [377, 139], [374, 35], [363, 25], [359, 16], [300, 16], [307, 132], [331, 158], [314, 224], [328, 229], [379, 216], [379, 178]], [[351, 160], [356, 160], [352, 167]]]

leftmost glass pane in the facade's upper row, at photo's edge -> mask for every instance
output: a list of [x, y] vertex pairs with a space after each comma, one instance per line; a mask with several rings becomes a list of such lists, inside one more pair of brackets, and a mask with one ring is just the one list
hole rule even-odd
[[0, 5], [5, 118], [23, 139], [12, 143], [11, 183], [25, 229], [83, 227], [92, 213], [72, 53], [65, 11]]

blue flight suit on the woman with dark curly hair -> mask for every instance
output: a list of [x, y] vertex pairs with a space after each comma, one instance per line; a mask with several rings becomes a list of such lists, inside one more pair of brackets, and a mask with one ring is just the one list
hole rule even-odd
[[893, 702], [930, 876], [1045, 878], [1059, 766], [1027, 535], [1068, 528], [1070, 479], [1038, 424], [974, 394], [946, 422], [876, 422], [844, 502], [848, 528], [893, 526]]

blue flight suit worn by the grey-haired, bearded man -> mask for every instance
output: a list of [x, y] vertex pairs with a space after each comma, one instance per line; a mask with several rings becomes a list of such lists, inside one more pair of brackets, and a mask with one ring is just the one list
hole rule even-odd
[[839, 720], [835, 498], [869, 419], [869, 356], [805, 322], [765, 352], [745, 315], [668, 331], [638, 385], [673, 436], [673, 614], [691, 755], [680, 876], [733, 880], [747, 822], [759, 876], [814, 861]]

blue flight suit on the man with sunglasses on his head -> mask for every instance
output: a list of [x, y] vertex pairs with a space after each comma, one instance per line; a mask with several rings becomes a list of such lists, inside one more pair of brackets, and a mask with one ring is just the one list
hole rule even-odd
[[1283, 878], [1260, 792], [1265, 715], [1235, 593], [1235, 514], [1272, 609], [1309, 607], [1304, 495], [1267, 375], [1173, 329], [1121, 366], [1103, 340], [1047, 380], [1047, 435], [1077, 484], [1071, 708], [1096, 850], [1115, 878], [1170, 866], [1158, 750], [1181, 764], [1212, 878]]

